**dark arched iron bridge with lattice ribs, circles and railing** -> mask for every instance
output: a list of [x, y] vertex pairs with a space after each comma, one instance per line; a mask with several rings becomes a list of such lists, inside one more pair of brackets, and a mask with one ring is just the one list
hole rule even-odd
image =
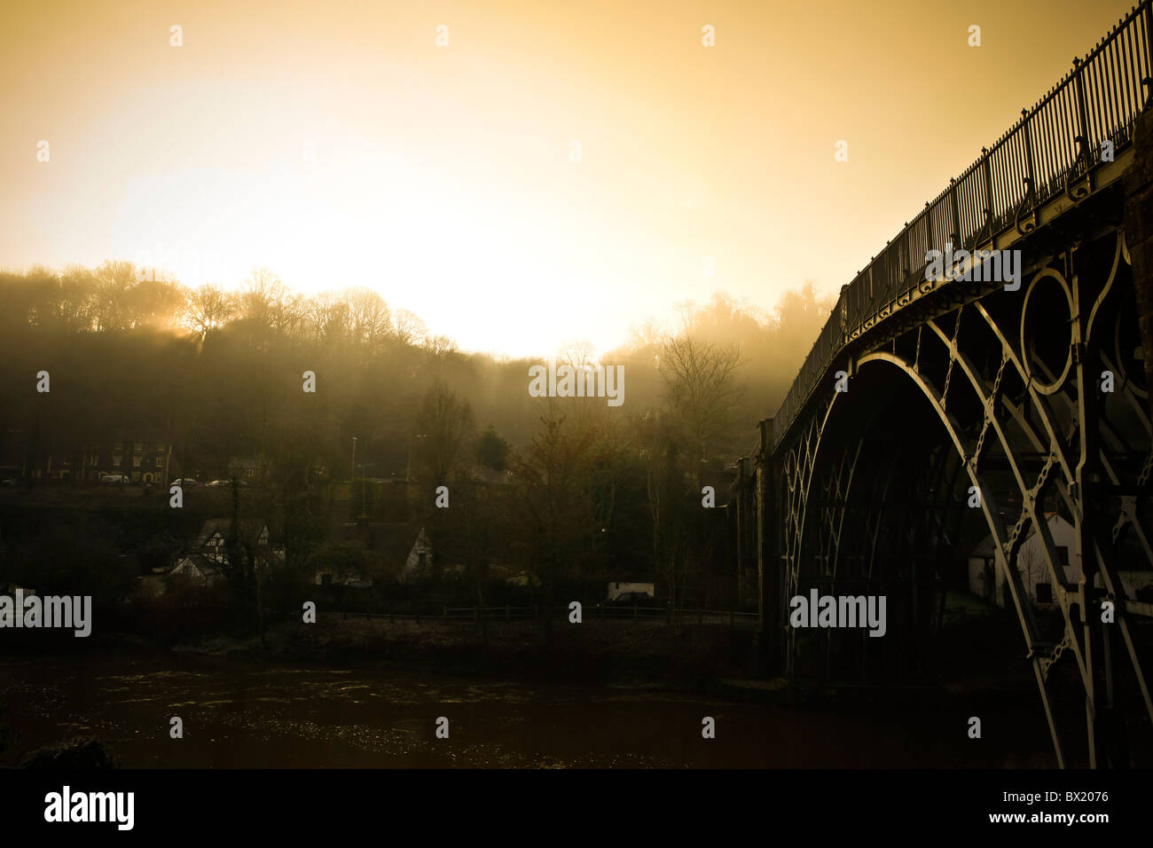
[[[975, 581], [1016, 615], [1057, 764], [1153, 764], [1151, 2], [842, 288], [738, 460], [769, 673], [939, 677], [945, 593]], [[1019, 250], [1019, 287], [927, 273], [949, 249]], [[886, 595], [884, 638], [791, 626], [814, 588]]]

